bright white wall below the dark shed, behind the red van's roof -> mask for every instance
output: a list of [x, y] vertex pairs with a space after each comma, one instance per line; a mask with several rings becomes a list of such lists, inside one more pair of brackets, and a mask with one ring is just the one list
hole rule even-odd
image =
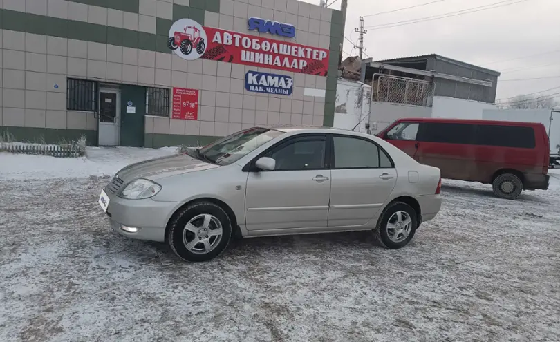
[[484, 110], [496, 108], [494, 104], [486, 102], [434, 96], [431, 115], [432, 117], [445, 117], [447, 119], [482, 119]]

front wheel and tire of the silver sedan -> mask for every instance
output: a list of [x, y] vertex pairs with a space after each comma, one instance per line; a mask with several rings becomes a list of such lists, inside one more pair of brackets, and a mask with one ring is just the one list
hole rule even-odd
[[169, 246], [186, 261], [207, 261], [230, 243], [230, 216], [212, 202], [195, 202], [180, 210], [168, 232]]

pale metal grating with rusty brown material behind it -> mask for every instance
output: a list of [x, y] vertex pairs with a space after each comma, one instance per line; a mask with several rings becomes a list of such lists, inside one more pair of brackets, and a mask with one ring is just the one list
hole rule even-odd
[[392, 75], [373, 75], [371, 100], [431, 107], [435, 86], [429, 81]]

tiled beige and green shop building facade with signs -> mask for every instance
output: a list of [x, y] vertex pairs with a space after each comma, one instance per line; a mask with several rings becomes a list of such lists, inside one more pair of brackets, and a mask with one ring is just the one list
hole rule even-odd
[[342, 13], [296, 0], [1, 0], [0, 133], [207, 144], [333, 126]]

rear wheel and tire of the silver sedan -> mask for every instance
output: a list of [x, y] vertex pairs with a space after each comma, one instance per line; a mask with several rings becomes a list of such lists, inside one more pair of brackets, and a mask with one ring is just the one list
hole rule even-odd
[[418, 227], [416, 217], [416, 211], [407, 203], [391, 203], [377, 221], [377, 240], [389, 249], [399, 249], [408, 245]]

